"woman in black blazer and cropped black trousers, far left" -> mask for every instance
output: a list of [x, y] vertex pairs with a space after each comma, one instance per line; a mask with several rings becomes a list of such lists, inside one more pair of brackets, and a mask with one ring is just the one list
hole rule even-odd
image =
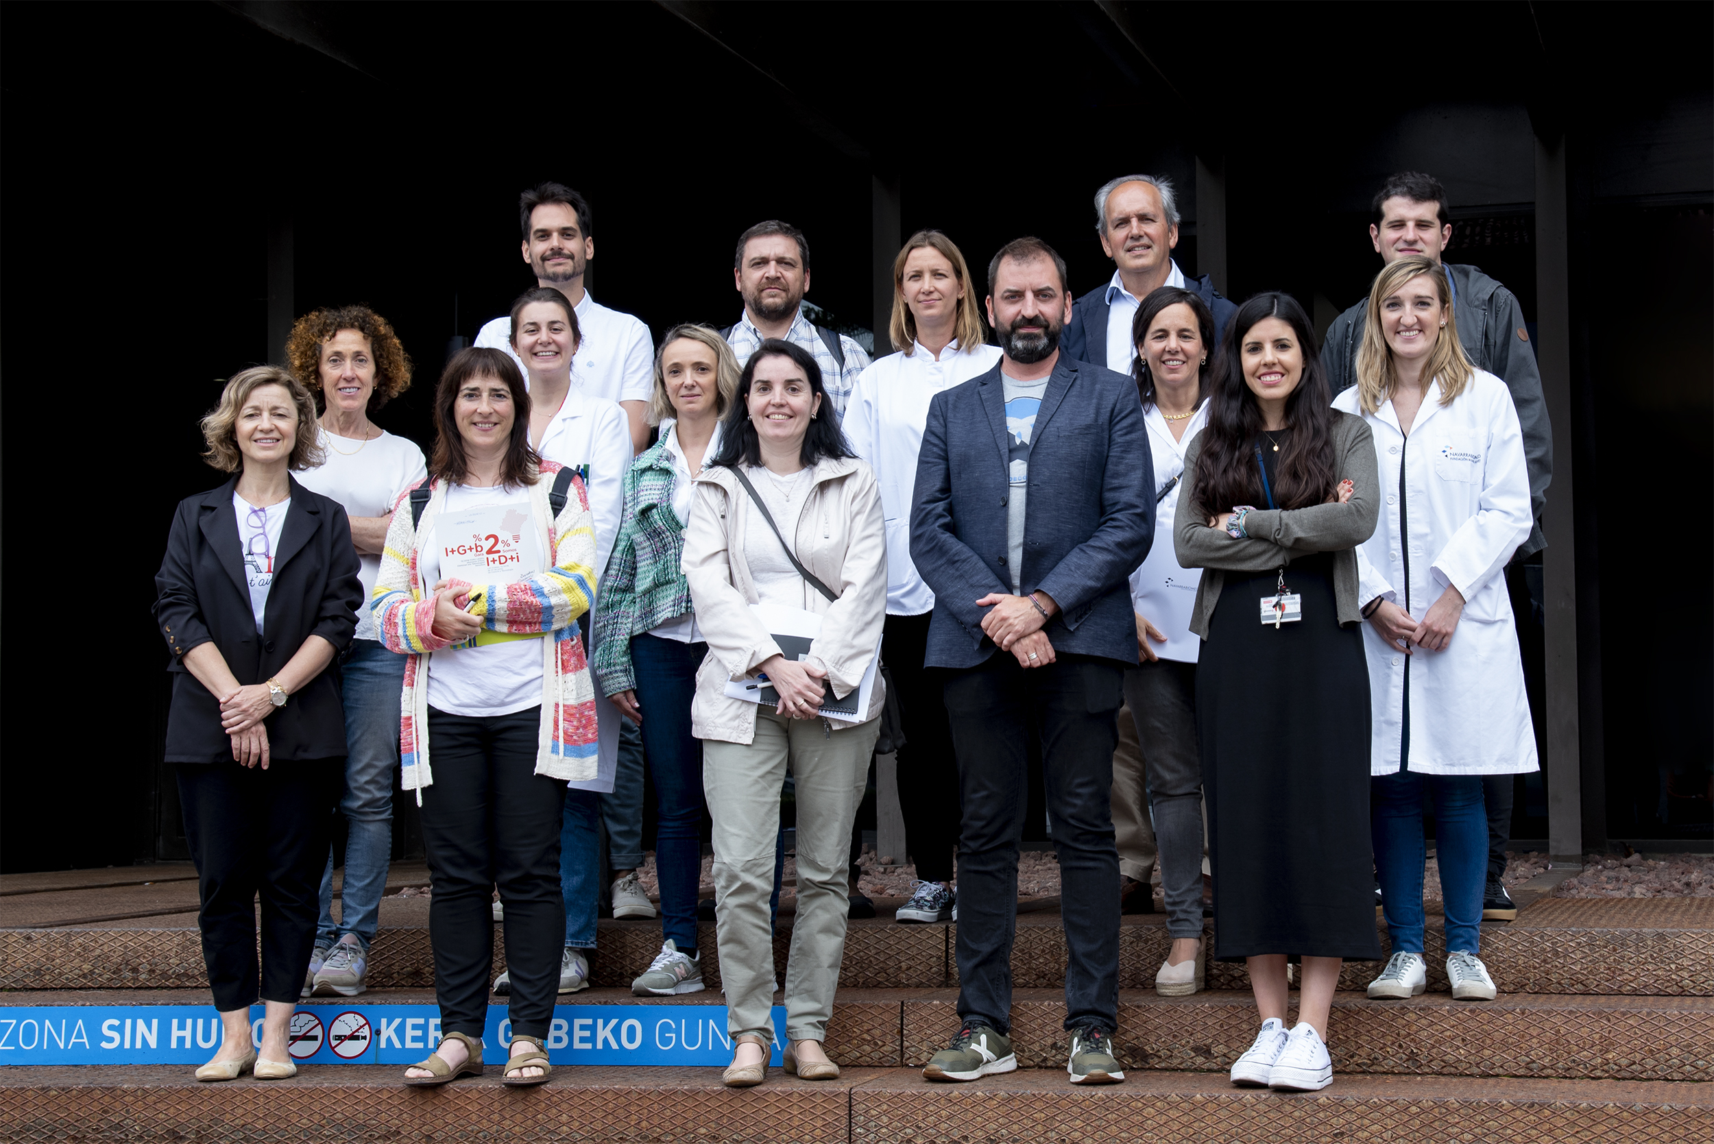
[[[202, 435], [207, 462], [235, 476], [180, 502], [154, 577], [154, 618], [173, 652], [166, 760], [178, 764], [202, 959], [225, 1024], [197, 1079], [290, 1077], [286, 1036], [345, 759], [339, 678], [326, 668], [351, 642], [363, 589], [345, 509], [291, 480], [321, 462], [303, 385], [273, 366], [245, 370]], [[250, 1048], [259, 995], [261, 1057]]]

